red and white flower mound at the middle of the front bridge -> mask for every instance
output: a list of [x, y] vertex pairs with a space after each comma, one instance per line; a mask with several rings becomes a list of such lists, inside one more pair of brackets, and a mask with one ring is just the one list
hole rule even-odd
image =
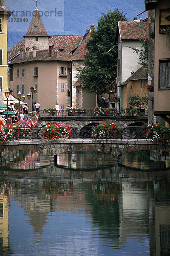
[[121, 138], [122, 135], [122, 127], [117, 127], [114, 123], [108, 121], [103, 124], [99, 123], [91, 131], [92, 139]]

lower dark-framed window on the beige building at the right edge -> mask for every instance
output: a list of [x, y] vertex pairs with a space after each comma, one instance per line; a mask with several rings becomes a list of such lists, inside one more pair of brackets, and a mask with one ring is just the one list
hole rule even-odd
[[159, 88], [170, 88], [170, 60], [159, 62]]

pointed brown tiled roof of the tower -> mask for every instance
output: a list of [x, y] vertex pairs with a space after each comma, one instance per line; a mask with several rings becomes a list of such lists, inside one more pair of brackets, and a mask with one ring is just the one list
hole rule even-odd
[[40, 13], [36, 7], [34, 15], [32, 17], [31, 23], [29, 24], [28, 30], [23, 37], [26, 36], [46, 36], [50, 37], [50, 35], [47, 34], [44, 24], [42, 22], [42, 18], [40, 16]]

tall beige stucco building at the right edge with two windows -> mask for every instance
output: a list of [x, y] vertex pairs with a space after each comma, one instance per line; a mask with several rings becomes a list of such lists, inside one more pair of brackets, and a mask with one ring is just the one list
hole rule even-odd
[[145, 0], [145, 9], [152, 13], [149, 23], [152, 22], [155, 29], [154, 47], [150, 48], [154, 60], [149, 59], [154, 74], [154, 114], [156, 122], [161, 116], [170, 124], [170, 1]]

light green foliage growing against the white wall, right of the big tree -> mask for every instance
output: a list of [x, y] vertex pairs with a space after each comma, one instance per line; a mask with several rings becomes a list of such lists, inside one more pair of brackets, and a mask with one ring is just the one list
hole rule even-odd
[[148, 40], [147, 39], [142, 40], [139, 38], [139, 42], [141, 43], [141, 49], [137, 49], [135, 47], [129, 47], [129, 48], [133, 49], [133, 52], [136, 52], [139, 55], [138, 64], [146, 65], [148, 62], [148, 48], [149, 48]]

